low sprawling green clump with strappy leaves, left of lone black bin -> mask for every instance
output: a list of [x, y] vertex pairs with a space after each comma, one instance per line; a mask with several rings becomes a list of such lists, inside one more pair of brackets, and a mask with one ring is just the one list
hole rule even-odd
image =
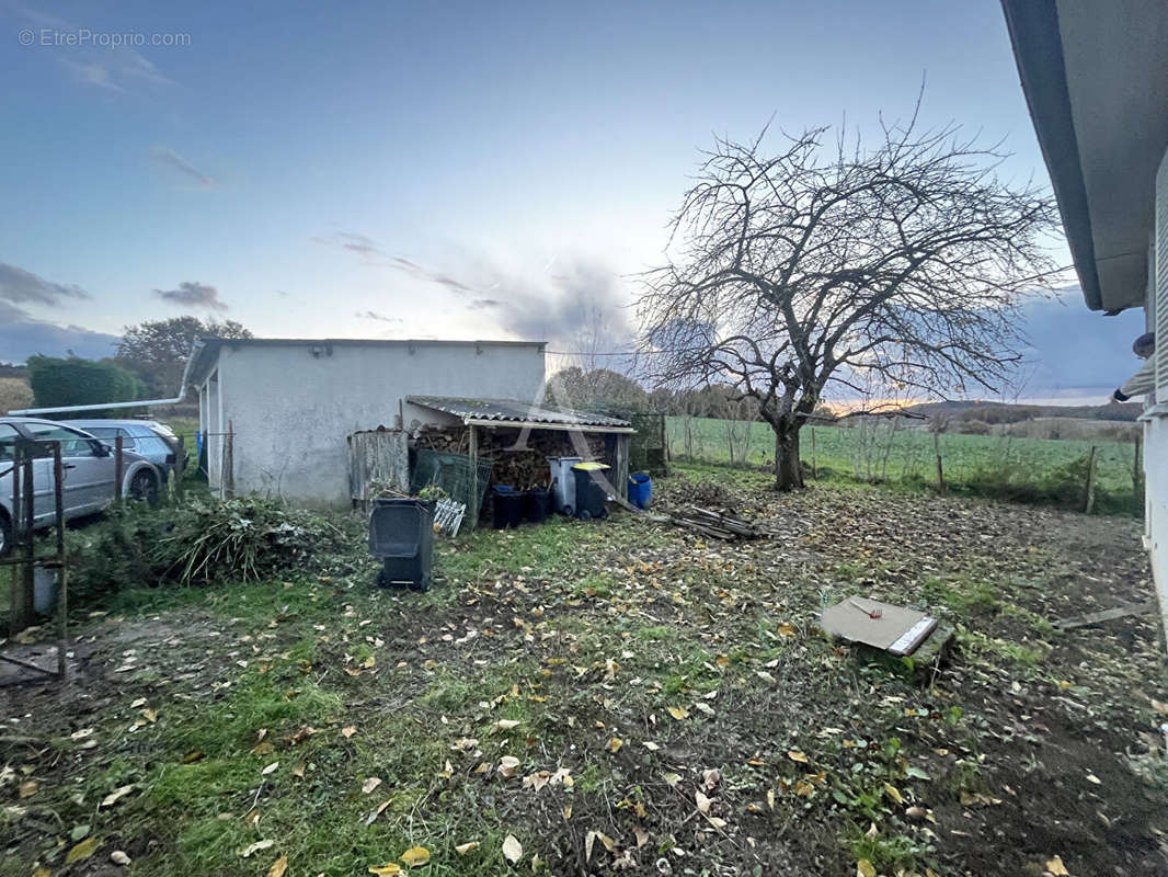
[[[346, 522], [347, 523], [347, 522]], [[95, 601], [126, 586], [208, 586], [319, 569], [355, 533], [262, 497], [132, 503], [69, 534], [70, 592]]]

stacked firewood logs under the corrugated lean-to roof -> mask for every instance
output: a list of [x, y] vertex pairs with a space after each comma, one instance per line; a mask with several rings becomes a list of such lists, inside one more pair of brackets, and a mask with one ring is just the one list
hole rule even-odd
[[[547, 488], [551, 479], [548, 457], [583, 456], [585, 460], [605, 460], [604, 436], [570, 433], [562, 429], [533, 429], [522, 447], [516, 447], [521, 430], [478, 427], [479, 457], [494, 462], [491, 481], [509, 484], [516, 490]], [[583, 438], [588, 447], [580, 454], [578, 446]], [[466, 427], [436, 427], [424, 424], [415, 433], [415, 447], [450, 454], [470, 454], [471, 437]]]

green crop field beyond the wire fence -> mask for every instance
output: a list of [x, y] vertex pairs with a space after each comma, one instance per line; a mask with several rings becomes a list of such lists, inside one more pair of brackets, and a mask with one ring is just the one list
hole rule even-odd
[[[745, 451], [748, 465], [774, 460], [774, 437], [766, 423], [669, 417], [667, 434], [674, 458], [742, 463], [741, 451], [731, 460], [734, 442]], [[1094, 447], [1096, 509], [1142, 512], [1142, 495], [1132, 479], [1135, 448], [1129, 442], [958, 434], [943, 434], [939, 442], [950, 490], [1068, 507], [1083, 504], [1087, 458]], [[937, 482], [933, 435], [889, 420], [854, 427], [805, 427], [801, 456], [808, 477], [814, 470], [821, 478], [918, 488]]]

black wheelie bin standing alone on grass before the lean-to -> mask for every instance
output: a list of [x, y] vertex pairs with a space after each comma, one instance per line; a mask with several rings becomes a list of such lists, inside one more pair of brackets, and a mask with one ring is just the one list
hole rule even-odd
[[377, 583], [429, 591], [434, 557], [434, 506], [422, 499], [377, 499], [369, 516], [369, 552], [382, 561]]

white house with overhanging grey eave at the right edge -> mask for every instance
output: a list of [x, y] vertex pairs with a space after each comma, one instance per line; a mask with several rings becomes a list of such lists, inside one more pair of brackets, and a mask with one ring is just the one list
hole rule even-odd
[[1141, 419], [1146, 541], [1168, 623], [1168, 1], [1002, 8], [1086, 305], [1140, 308], [1156, 336]]

